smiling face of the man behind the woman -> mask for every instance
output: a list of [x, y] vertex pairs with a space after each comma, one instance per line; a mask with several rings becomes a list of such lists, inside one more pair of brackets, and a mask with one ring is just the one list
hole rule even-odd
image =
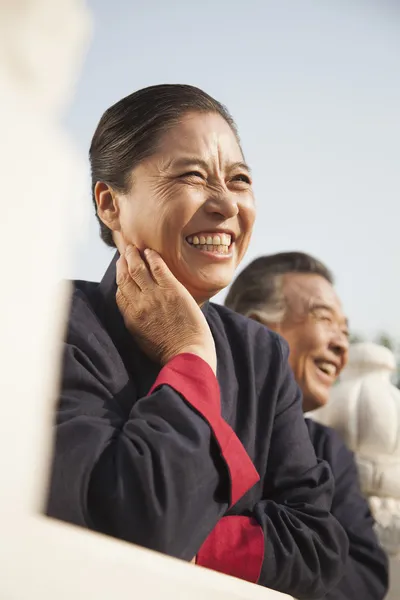
[[305, 412], [324, 406], [348, 358], [348, 324], [332, 285], [320, 275], [289, 273], [283, 293], [287, 314], [279, 333], [303, 392]]

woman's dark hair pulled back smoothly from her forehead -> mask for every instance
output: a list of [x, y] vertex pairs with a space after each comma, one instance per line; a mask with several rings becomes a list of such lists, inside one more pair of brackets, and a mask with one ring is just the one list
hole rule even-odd
[[100, 223], [100, 235], [115, 247], [111, 230], [97, 215], [94, 188], [98, 181], [121, 193], [130, 184], [130, 173], [151, 156], [160, 136], [188, 112], [218, 113], [230, 125], [238, 143], [236, 125], [217, 100], [191, 85], [164, 84], [144, 88], [123, 98], [103, 114], [89, 150], [92, 199]]

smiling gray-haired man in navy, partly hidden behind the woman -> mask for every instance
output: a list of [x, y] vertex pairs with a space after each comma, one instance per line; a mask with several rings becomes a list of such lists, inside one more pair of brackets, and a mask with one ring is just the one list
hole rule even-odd
[[[348, 324], [330, 271], [301, 252], [263, 256], [231, 286], [226, 306], [280, 333], [289, 343], [289, 362], [303, 392], [303, 410], [323, 406], [345, 367]], [[358, 483], [352, 453], [331, 428], [306, 419], [318, 458], [335, 478], [332, 514], [350, 543], [343, 579], [329, 600], [381, 600], [388, 588], [387, 558]]]

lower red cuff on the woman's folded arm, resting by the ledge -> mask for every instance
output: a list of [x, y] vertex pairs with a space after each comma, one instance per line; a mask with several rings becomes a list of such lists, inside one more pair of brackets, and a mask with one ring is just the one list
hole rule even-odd
[[255, 519], [223, 517], [200, 548], [196, 564], [257, 583], [264, 547], [264, 532]]

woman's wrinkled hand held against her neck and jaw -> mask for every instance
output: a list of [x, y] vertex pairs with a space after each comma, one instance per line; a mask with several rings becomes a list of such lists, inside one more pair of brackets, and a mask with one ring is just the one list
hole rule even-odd
[[118, 308], [125, 325], [147, 356], [165, 365], [191, 352], [216, 372], [214, 340], [195, 300], [157, 252], [128, 246], [117, 262]]

